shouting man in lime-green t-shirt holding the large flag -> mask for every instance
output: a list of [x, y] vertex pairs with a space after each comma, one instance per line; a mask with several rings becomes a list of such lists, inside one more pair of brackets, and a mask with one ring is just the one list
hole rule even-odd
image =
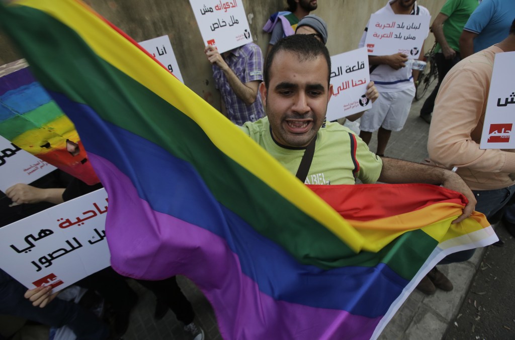
[[[405, 160], [379, 157], [351, 130], [325, 121], [333, 94], [328, 49], [313, 35], [294, 34], [270, 50], [260, 94], [267, 117], [240, 127], [291, 173], [298, 173], [306, 150], [314, 146], [306, 175], [309, 184], [428, 183], [463, 193], [469, 203], [455, 221], [470, 216], [475, 198], [454, 172]], [[372, 90], [373, 101], [379, 94]]]

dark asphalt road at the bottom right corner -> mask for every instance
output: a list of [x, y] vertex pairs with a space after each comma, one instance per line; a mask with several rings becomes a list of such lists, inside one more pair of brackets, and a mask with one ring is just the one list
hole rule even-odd
[[496, 232], [505, 244], [488, 247], [445, 340], [515, 339], [515, 239]]

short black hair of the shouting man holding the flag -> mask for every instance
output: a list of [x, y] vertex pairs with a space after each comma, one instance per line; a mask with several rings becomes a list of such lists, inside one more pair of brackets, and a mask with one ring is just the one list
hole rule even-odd
[[273, 59], [279, 51], [289, 51], [295, 53], [300, 61], [314, 60], [318, 56], [323, 56], [325, 61], [327, 61], [327, 83], [329, 86], [329, 81], [331, 79], [331, 57], [329, 56], [327, 47], [325, 47], [325, 45], [312, 34], [293, 34], [289, 37], [279, 40], [275, 45], [272, 46], [270, 53], [268, 53], [265, 64], [266, 88], [268, 88], [270, 81], [270, 68], [272, 66]]

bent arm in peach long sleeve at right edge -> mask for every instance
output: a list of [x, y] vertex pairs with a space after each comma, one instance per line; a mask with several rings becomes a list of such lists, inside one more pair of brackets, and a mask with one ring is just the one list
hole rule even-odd
[[429, 131], [427, 151], [445, 167], [466, 167], [483, 172], [515, 172], [515, 153], [480, 150], [471, 133], [483, 124], [491, 68], [451, 70], [440, 86]]

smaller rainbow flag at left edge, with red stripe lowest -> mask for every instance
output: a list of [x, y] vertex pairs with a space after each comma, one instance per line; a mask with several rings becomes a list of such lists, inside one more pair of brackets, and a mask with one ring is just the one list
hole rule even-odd
[[[99, 182], [73, 123], [19, 60], [0, 67], [0, 135], [88, 184]], [[66, 151], [66, 140], [79, 153]]]

